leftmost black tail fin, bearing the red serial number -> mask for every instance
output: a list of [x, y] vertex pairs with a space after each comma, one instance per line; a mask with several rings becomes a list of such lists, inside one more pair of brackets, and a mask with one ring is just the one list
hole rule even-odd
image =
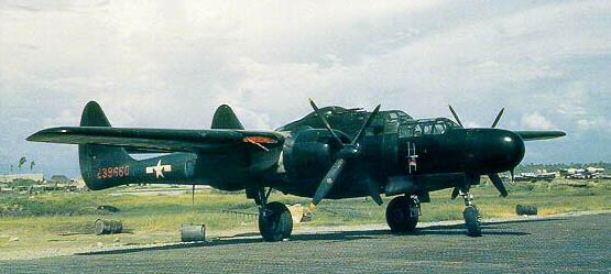
[[[110, 122], [100, 106], [90, 101], [83, 110], [80, 127], [110, 127]], [[122, 147], [99, 144], [78, 145], [78, 161], [83, 179], [91, 190], [123, 184], [118, 177], [112, 176], [112, 172], [114, 168], [122, 168], [121, 174], [123, 174], [127, 167], [129, 173], [129, 164], [135, 162]], [[106, 176], [107, 173], [110, 176]]]

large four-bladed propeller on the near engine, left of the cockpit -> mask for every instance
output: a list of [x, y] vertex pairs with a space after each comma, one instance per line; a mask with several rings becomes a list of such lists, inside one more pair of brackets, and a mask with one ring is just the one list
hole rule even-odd
[[[323, 180], [318, 185], [318, 188], [314, 194], [314, 198], [309, 204], [310, 211], [314, 211], [316, 205], [318, 205], [327, 196], [327, 194], [329, 194], [329, 191], [334, 187], [335, 183], [337, 182], [337, 178], [339, 177], [339, 175], [341, 174], [341, 171], [343, 171], [346, 165], [350, 161], [361, 155], [360, 142], [364, 136], [367, 128], [369, 128], [369, 125], [371, 124], [375, 116], [378, 116], [378, 112], [380, 111], [380, 105], [378, 105], [378, 107], [375, 107], [375, 109], [369, 114], [369, 117], [362, 124], [361, 129], [359, 130], [359, 132], [350, 143], [343, 143], [341, 139], [337, 136], [337, 134], [329, 125], [329, 122], [327, 122], [327, 119], [325, 118], [324, 113], [320, 111], [320, 109], [316, 106], [316, 103], [312, 99], [309, 99], [309, 105], [312, 105], [312, 108], [316, 112], [318, 119], [320, 119], [325, 128], [327, 128], [329, 133], [332, 135], [334, 140], [339, 145], [339, 151], [336, 154], [336, 157], [337, 157], [336, 162], [332, 164], [331, 168], [327, 172], [325, 177], [323, 177]], [[382, 197], [380, 197], [380, 190], [378, 189], [378, 186], [371, 179], [367, 179], [365, 182], [367, 182], [371, 198], [375, 202], [378, 202], [378, 205], [381, 205]]]

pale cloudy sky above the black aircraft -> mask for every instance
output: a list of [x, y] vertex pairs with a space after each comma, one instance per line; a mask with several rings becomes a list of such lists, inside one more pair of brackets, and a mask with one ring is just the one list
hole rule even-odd
[[[230, 105], [271, 130], [319, 106], [401, 109], [468, 127], [563, 130], [523, 163], [611, 161], [610, 1], [0, 0], [0, 174], [78, 176], [78, 125], [209, 128]], [[22, 172], [29, 172], [28, 167]], [[17, 172], [17, 167], [15, 167]]]

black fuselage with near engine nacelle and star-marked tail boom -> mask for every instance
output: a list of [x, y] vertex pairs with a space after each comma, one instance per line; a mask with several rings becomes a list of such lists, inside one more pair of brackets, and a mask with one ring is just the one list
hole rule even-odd
[[[351, 140], [368, 112], [327, 107], [321, 109], [342, 140]], [[266, 152], [223, 154], [173, 153], [140, 161], [140, 169], [154, 183], [201, 184], [223, 190], [271, 186], [286, 194], [312, 197], [320, 179], [336, 160], [337, 147], [315, 113], [276, 130], [282, 146]], [[381, 111], [368, 128], [362, 142], [367, 161], [349, 163], [328, 198], [362, 197], [363, 180], [373, 180], [384, 193], [390, 180], [427, 174], [458, 177], [427, 184], [414, 190], [433, 191], [456, 186], [465, 174], [483, 175], [515, 167], [524, 155], [521, 138], [506, 130], [461, 129], [446, 118], [415, 120], [403, 111]], [[172, 172], [159, 176], [160, 165]], [[132, 167], [133, 168], [133, 167]], [[257, 175], [253, 175], [257, 174]], [[153, 177], [154, 176], [154, 177]], [[418, 185], [419, 184], [419, 185]]]

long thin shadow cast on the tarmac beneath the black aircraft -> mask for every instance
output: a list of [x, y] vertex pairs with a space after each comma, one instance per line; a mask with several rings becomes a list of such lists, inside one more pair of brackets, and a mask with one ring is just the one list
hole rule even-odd
[[[552, 218], [552, 219], [483, 222], [482, 234], [484, 237], [485, 235], [528, 235], [531, 233], [508, 230], [510, 227], [506, 227], [503, 224], [521, 223], [521, 222], [565, 221], [565, 220], [566, 219]], [[337, 232], [324, 232], [324, 233], [302, 233], [302, 234], [291, 235], [290, 242], [353, 241], [353, 240], [375, 239], [381, 237], [465, 235], [465, 234], [466, 234], [465, 224], [458, 223], [458, 224], [441, 224], [441, 226], [421, 228], [414, 233], [392, 233], [390, 230], [358, 230], [358, 231], [337, 231]], [[195, 248], [222, 246], [222, 245], [249, 244], [249, 243], [276, 244], [276, 243], [265, 243], [263, 242], [263, 239], [259, 238], [258, 235], [259, 233], [249, 232], [249, 233], [236, 234], [233, 237], [219, 238], [218, 240], [215, 240], [211, 242], [176, 243], [176, 244], [162, 245], [162, 246], [144, 246], [144, 248], [133, 248], [133, 249], [123, 249], [123, 250], [94, 251], [94, 252], [76, 253], [76, 255], [128, 254], [128, 253], [145, 252], [145, 251], [195, 249]], [[240, 238], [237, 238], [237, 237], [240, 237]], [[241, 238], [241, 237], [254, 237], [254, 238]]]

